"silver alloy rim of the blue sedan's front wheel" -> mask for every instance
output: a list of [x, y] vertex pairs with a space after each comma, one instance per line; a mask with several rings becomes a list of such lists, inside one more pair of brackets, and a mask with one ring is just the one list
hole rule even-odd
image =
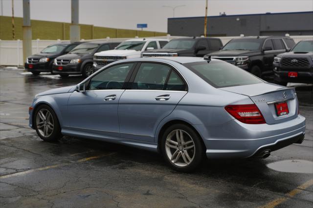
[[54, 121], [49, 110], [43, 108], [36, 116], [36, 127], [43, 137], [49, 137], [53, 133]]

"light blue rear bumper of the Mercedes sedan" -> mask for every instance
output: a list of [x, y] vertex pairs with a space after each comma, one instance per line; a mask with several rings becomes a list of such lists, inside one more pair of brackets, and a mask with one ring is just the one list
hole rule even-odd
[[299, 115], [295, 119], [274, 125], [248, 125], [232, 120], [224, 125], [194, 127], [203, 138], [208, 158], [247, 158], [264, 148], [274, 151], [302, 142], [300, 140], [305, 134], [305, 118]]

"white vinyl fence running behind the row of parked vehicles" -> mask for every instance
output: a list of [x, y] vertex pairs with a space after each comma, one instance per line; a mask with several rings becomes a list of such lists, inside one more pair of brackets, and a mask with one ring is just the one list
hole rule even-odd
[[[290, 36], [294, 42], [299, 42], [303, 40], [313, 39], [313, 36]], [[135, 37], [138, 38], [138, 37]], [[164, 39], [177, 39], [177, 38], [186, 38], [182, 36], [159, 36], [159, 37], [147, 37], [147, 38], [164, 38]], [[234, 38], [240, 38], [240, 36], [235, 37], [216, 37], [220, 38], [225, 45], [228, 41]], [[93, 40], [82, 40], [82, 41], [94, 41], [94, 42], [113, 42], [113, 41], [125, 41], [130, 38], [110, 38], [107, 37], [106, 39], [93, 39]], [[46, 46], [57, 43], [57, 42], [68, 42], [68, 41], [60, 41], [60, 40], [33, 40], [32, 41], [32, 54], [39, 53], [42, 51]], [[1, 41], [0, 40], [0, 65], [7, 65], [7, 66], [23, 66], [25, 60], [23, 60], [23, 50], [22, 50], [22, 41]]]

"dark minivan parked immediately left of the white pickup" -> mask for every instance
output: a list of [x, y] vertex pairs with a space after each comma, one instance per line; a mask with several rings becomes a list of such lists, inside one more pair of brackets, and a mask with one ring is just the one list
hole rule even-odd
[[93, 73], [93, 54], [112, 50], [121, 42], [84, 42], [68, 54], [57, 57], [53, 62], [53, 73], [66, 78], [70, 74], [88, 77]]

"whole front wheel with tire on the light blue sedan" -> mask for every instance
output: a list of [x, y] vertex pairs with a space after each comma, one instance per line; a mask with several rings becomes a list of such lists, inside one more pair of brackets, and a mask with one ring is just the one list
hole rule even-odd
[[62, 137], [59, 120], [48, 105], [40, 105], [34, 114], [34, 126], [38, 136], [46, 142], [55, 142]]

